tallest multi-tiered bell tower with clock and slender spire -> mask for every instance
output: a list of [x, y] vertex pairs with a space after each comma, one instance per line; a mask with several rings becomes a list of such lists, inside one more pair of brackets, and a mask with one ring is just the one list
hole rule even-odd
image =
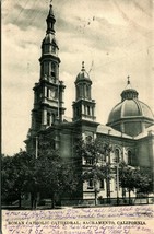
[[59, 47], [55, 37], [56, 19], [51, 4], [46, 22], [46, 36], [42, 43], [42, 56], [39, 58], [39, 82], [35, 83], [33, 89], [34, 108], [32, 110], [31, 131], [34, 134], [55, 125], [56, 121], [61, 122], [64, 114], [63, 93], [66, 86], [59, 80]]

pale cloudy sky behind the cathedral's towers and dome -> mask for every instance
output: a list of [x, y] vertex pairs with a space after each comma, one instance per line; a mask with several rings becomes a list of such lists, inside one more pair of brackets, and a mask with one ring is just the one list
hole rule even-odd
[[[33, 86], [50, 1], [3, 0], [2, 153], [25, 149]], [[82, 61], [90, 72], [96, 120], [106, 124], [130, 77], [139, 100], [154, 113], [154, 0], [54, 0], [66, 116], [72, 117]]]

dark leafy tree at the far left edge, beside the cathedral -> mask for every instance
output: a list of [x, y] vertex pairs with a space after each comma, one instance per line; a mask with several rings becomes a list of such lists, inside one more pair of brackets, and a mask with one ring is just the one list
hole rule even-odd
[[7, 201], [19, 200], [29, 190], [34, 177], [34, 159], [25, 151], [2, 157], [2, 194]]

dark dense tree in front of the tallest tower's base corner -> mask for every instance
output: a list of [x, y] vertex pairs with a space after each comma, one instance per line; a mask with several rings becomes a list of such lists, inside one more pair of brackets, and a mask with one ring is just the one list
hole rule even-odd
[[76, 179], [72, 164], [64, 163], [52, 142], [40, 141], [38, 159], [36, 159], [37, 183], [43, 197], [51, 199], [51, 208], [62, 195], [73, 192]]

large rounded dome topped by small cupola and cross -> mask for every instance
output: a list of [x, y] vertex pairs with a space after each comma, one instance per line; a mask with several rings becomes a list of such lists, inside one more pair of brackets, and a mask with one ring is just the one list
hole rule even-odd
[[121, 93], [121, 102], [109, 114], [107, 125], [130, 136], [141, 132], [141, 125], [145, 128], [154, 125], [151, 108], [138, 100], [138, 92], [131, 87], [129, 80], [127, 87]]

